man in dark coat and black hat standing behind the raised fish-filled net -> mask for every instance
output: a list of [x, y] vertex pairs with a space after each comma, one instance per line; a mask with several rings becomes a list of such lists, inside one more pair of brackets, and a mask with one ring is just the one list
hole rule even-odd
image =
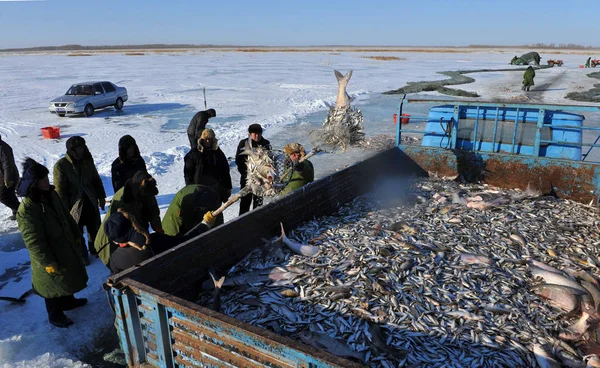
[[[262, 147], [266, 150], [271, 150], [271, 142], [266, 140], [262, 136], [262, 127], [260, 124], [252, 124], [248, 127], [249, 138], [242, 139], [238, 144], [238, 148], [235, 154], [235, 164], [237, 165], [238, 171], [240, 172], [240, 188], [246, 186], [248, 180], [248, 167], [246, 166], [247, 155], [242, 154], [246, 147], [246, 142], [250, 142], [252, 148]], [[253, 208], [262, 206], [263, 197], [254, 195], [252, 193], [242, 197], [240, 199], [240, 215], [250, 211], [250, 205]]]

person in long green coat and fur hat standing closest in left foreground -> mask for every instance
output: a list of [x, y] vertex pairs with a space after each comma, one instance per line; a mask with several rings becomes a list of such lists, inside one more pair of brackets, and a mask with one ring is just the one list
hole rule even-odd
[[31, 259], [33, 289], [44, 298], [50, 323], [65, 328], [73, 321], [64, 311], [87, 303], [73, 294], [87, 286], [88, 275], [79, 251], [79, 227], [50, 185], [48, 173], [35, 160], [25, 159], [17, 186], [23, 197], [17, 221]]

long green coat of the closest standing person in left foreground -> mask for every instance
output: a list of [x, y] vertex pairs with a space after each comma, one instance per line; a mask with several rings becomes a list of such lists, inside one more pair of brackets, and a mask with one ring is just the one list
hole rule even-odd
[[[88, 275], [80, 256], [81, 233], [69, 210], [51, 187], [34, 201], [25, 197], [17, 212], [19, 231], [31, 259], [33, 289], [44, 298], [73, 295], [83, 290]], [[46, 267], [56, 263], [60, 274]]]

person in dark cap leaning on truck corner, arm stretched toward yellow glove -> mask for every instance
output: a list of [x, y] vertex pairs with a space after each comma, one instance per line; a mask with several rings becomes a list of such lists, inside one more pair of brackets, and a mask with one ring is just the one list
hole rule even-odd
[[210, 212], [204, 214], [202, 222], [181, 236], [154, 232], [148, 234], [129, 213], [119, 209], [104, 223], [108, 239], [118, 247], [110, 257], [109, 268], [113, 274], [125, 271], [141, 262], [192, 239], [215, 223]]

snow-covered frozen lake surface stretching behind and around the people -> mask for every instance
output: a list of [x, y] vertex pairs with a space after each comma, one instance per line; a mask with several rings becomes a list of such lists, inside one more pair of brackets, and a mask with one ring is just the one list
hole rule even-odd
[[[526, 51], [526, 50], [523, 50]], [[146, 53], [98, 53], [69, 57], [66, 54], [0, 54], [0, 134], [14, 150], [19, 169], [26, 156], [50, 170], [65, 152], [66, 138], [83, 136], [94, 157], [107, 195], [112, 196], [110, 167], [117, 157], [117, 142], [132, 135], [149, 172], [156, 178], [157, 197], [164, 215], [174, 194], [184, 186], [183, 157], [189, 150], [185, 130], [198, 110], [204, 110], [202, 89], [206, 88], [209, 108], [217, 117], [209, 122], [225, 155], [233, 157], [247, 127], [260, 123], [265, 138], [281, 149], [290, 141], [304, 144], [308, 134], [319, 128], [329, 106], [335, 103], [337, 81], [333, 70], [353, 69], [348, 93], [352, 105], [361, 109], [367, 136], [394, 132], [392, 114], [399, 95], [381, 95], [409, 81], [447, 77], [439, 71], [461, 69], [505, 69], [515, 54], [510, 50], [468, 53], [388, 52], [401, 60], [364, 58], [369, 52], [224, 52], [198, 51]], [[543, 62], [553, 57], [541, 53]], [[563, 99], [570, 91], [583, 91], [597, 81], [586, 76], [589, 69], [577, 66], [582, 55], [561, 54], [563, 67], [536, 73], [536, 88], [529, 96], [538, 102], [582, 104]], [[515, 66], [515, 69], [519, 67]], [[481, 100], [510, 100], [523, 95], [522, 71], [473, 73], [474, 83], [456, 88], [477, 92]], [[96, 111], [90, 118], [60, 118], [48, 112], [48, 101], [71, 84], [86, 80], [110, 80], [125, 86], [129, 101], [122, 112], [113, 108]], [[542, 89], [543, 87], [543, 90]], [[426, 95], [439, 97], [436, 92]], [[411, 121], [418, 126], [427, 108], [409, 106]], [[586, 123], [600, 123], [598, 114], [586, 114]], [[46, 140], [40, 128], [58, 125], [61, 139]], [[421, 126], [423, 128], [423, 126]], [[588, 137], [589, 138], [589, 137]], [[592, 137], [592, 139], [595, 137]], [[316, 178], [364, 158], [357, 149], [344, 154], [322, 153], [313, 158]], [[596, 156], [598, 157], [598, 156]], [[233, 192], [239, 190], [239, 174], [231, 169]], [[52, 179], [52, 178], [51, 178]], [[237, 216], [237, 205], [225, 212], [225, 219]], [[17, 231], [8, 221], [10, 210], [0, 206], [0, 295], [18, 297], [31, 287], [29, 256]], [[83, 353], [93, 347], [101, 331], [111, 328], [113, 319], [102, 283], [108, 270], [93, 258], [87, 267], [88, 287], [76, 294], [89, 299], [88, 305], [67, 315], [75, 325], [57, 329], [47, 321], [43, 299], [31, 295], [23, 305], [0, 301], [0, 367], [81, 367]]]

